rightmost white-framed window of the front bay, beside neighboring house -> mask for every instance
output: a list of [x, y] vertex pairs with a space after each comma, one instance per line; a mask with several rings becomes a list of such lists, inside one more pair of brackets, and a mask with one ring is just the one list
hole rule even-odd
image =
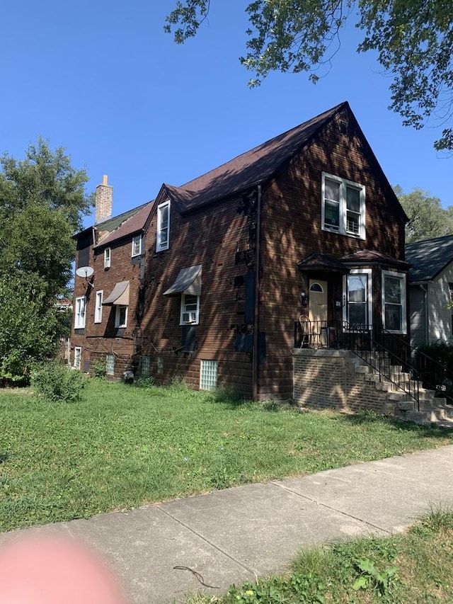
[[382, 323], [395, 334], [406, 334], [406, 275], [382, 271]]

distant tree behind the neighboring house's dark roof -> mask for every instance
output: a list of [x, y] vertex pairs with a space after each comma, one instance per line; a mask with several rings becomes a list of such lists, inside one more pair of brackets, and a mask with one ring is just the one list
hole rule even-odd
[[439, 198], [432, 197], [428, 191], [420, 188], [415, 188], [411, 193], [403, 193], [400, 186], [394, 190], [409, 219], [406, 244], [453, 234], [452, 207], [444, 210]]

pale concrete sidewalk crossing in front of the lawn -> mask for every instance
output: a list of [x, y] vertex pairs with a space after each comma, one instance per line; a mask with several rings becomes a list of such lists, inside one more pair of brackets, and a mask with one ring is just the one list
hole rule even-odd
[[110, 562], [132, 603], [148, 604], [224, 591], [311, 545], [401, 531], [440, 503], [453, 506], [453, 445], [4, 533], [0, 545], [31, 531], [76, 537]]

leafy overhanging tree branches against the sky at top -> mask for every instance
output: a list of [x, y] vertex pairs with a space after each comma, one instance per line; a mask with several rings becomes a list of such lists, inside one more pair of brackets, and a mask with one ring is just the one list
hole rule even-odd
[[[316, 83], [340, 44], [340, 30], [354, 14], [365, 37], [358, 52], [377, 51], [391, 75], [391, 110], [417, 129], [430, 118], [443, 127], [436, 149], [453, 150], [453, 3], [445, 0], [253, 0], [245, 10], [251, 27], [241, 63], [258, 86], [272, 71], [308, 72]], [[182, 43], [193, 37], [210, 0], [178, 0], [165, 30]]]

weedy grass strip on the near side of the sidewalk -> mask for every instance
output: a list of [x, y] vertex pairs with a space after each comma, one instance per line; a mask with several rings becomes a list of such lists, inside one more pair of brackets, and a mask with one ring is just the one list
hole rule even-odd
[[403, 535], [360, 537], [303, 552], [282, 576], [191, 604], [453, 602], [453, 512], [436, 508]]

